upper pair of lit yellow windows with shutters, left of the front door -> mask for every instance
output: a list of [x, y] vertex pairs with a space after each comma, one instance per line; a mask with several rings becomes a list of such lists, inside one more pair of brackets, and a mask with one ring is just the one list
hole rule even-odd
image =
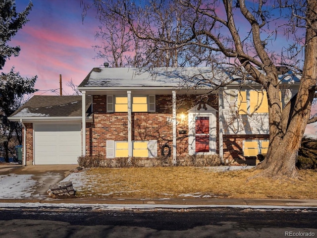
[[[155, 96], [132, 96], [132, 112], [155, 112]], [[107, 112], [128, 112], [128, 97], [107, 95]]]

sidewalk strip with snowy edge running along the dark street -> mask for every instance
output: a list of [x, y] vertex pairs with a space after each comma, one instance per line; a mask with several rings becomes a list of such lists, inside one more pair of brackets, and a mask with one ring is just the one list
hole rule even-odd
[[317, 200], [313, 199], [242, 199], [242, 198], [30, 198], [30, 199], [0, 199], [0, 207], [10, 206], [9, 204], [19, 204], [19, 206], [98, 206], [98, 207], [127, 207], [127, 208], [216, 208], [216, 207], [236, 207], [236, 208], [263, 208], [263, 209], [305, 209], [317, 208]]

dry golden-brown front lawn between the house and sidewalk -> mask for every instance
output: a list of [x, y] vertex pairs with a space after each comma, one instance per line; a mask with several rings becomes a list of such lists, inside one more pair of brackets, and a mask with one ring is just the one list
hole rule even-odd
[[260, 171], [213, 172], [208, 167], [90, 169], [78, 196], [116, 198], [276, 198], [317, 199], [317, 172], [300, 179], [254, 177]]

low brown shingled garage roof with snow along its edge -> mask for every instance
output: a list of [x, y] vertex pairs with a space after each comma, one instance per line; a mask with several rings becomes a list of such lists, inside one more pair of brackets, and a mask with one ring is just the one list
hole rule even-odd
[[[86, 100], [86, 112], [91, 102]], [[10, 120], [25, 118], [49, 119], [82, 117], [82, 96], [41, 96], [34, 95], [18, 108]]]

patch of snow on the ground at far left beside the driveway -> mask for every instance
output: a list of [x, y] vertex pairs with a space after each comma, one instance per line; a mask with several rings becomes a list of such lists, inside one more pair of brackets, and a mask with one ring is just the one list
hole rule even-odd
[[1, 175], [0, 198], [29, 198], [35, 191], [33, 175]]

